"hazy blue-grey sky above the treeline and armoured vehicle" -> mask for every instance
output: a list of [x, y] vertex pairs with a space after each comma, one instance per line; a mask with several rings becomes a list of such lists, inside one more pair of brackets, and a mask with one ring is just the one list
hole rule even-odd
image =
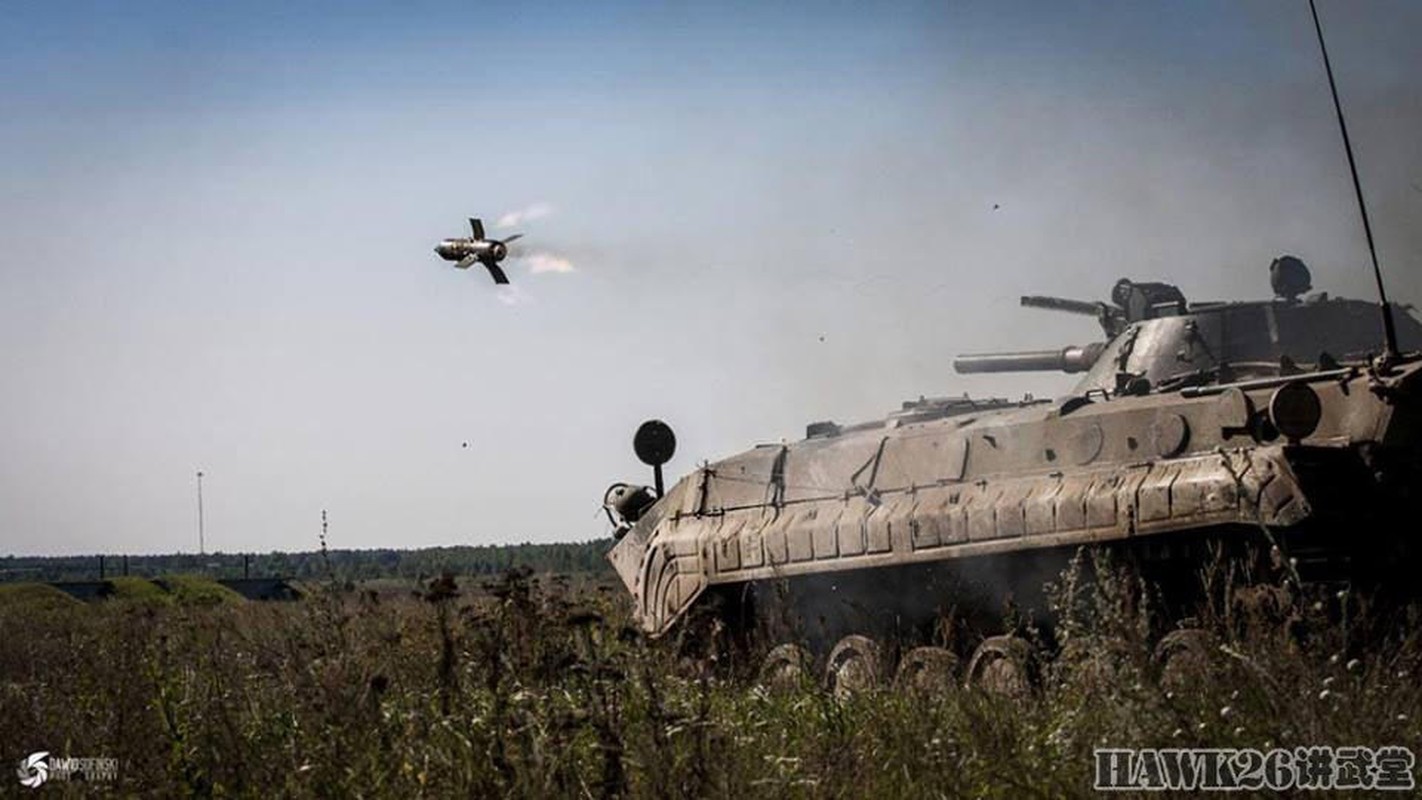
[[[1422, 7], [1321, 13], [1422, 301]], [[951, 374], [1096, 334], [1024, 293], [1369, 291], [1305, 3], [3, 14], [4, 553], [193, 550], [198, 469], [209, 548], [584, 540], [648, 416], [1064, 391]], [[431, 253], [529, 207], [513, 294]]]

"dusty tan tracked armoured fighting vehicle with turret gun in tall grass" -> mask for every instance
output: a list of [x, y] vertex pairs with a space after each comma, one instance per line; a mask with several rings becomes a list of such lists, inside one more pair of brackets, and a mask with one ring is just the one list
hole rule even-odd
[[[954, 367], [1081, 372], [1061, 398], [920, 398], [884, 419], [815, 422], [664, 493], [660, 466], [657, 487], [613, 485], [609, 560], [640, 625], [661, 635], [714, 608], [744, 631], [791, 610], [791, 637], [818, 654], [776, 648], [766, 669], [828, 652], [833, 682], [890, 668], [876, 641], [933, 642], [951, 610], [973, 641], [903, 648], [897, 669], [966, 658], [973, 682], [1027, 669], [1004, 607], [1042, 611], [1042, 584], [1082, 546], [1132, 564], [1182, 617], [1221, 551], [1256, 554], [1263, 580], [1413, 590], [1416, 537], [1398, 520], [1419, 509], [1422, 324], [1310, 294], [1291, 256], [1270, 279], [1266, 301], [1130, 280], [1111, 303], [1024, 297], [1094, 317], [1103, 341]], [[674, 438], [651, 422], [636, 445], [660, 465]]]

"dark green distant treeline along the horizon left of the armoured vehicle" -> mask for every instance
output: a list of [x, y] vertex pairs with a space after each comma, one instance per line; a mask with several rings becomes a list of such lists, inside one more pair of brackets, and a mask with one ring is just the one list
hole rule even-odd
[[[201, 574], [213, 578], [422, 578], [449, 571], [491, 575], [513, 567], [535, 573], [611, 574], [604, 554], [610, 540], [566, 544], [488, 544], [424, 550], [313, 550], [307, 553], [173, 553], [168, 556], [102, 557], [105, 577]], [[100, 556], [0, 558], [4, 581], [85, 581], [100, 577]]]

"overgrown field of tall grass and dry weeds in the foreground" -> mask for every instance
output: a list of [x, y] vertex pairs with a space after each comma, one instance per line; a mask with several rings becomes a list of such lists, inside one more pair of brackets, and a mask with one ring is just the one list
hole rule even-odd
[[637, 635], [620, 588], [523, 574], [286, 604], [46, 588], [0, 591], [3, 753], [114, 757], [104, 789], [131, 796], [1074, 797], [1095, 747], [1422, 752], [1411, 621], [1349, 649], [1338, 622], [1212, 618], [1203, 672], [1162, 685], [1112, 581], [1058, 593], [1015, 698], [769, 691], [758, 651], [691, 659]]

